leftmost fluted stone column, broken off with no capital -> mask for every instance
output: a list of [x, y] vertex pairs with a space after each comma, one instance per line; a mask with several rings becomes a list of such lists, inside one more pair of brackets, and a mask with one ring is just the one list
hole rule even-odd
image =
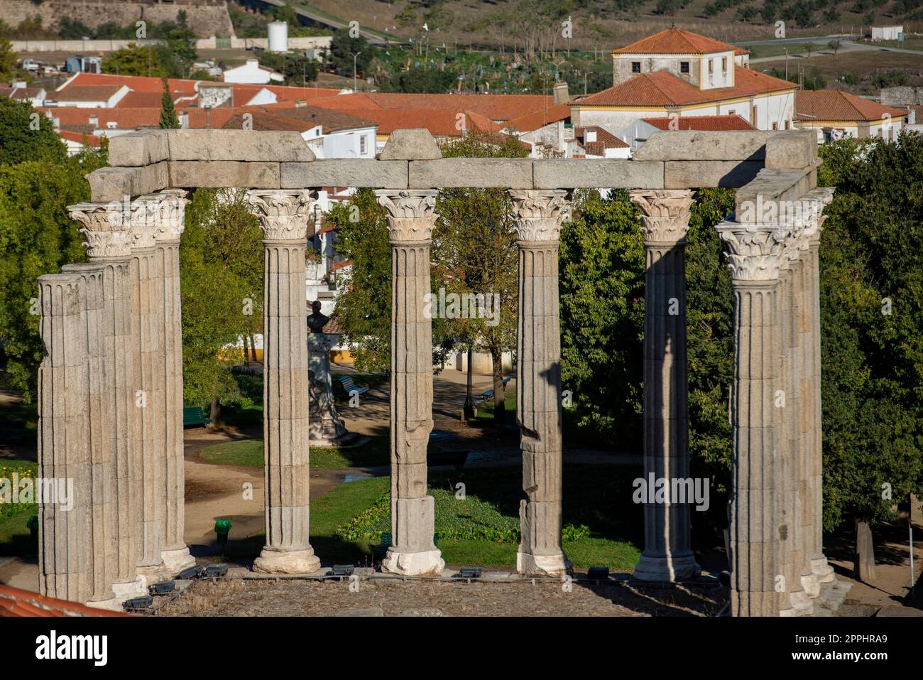
[[86, 316], [81, 313], [81, 276], [39, 277], [39, 477], [72, 484], [72, 507], [43, 499], [39, 505], [39, 589], [42, 595], [89, 601], [92, 507]]

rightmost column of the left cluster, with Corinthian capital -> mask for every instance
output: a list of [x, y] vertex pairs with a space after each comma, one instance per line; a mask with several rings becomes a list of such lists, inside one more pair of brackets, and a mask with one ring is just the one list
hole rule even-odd
[[183, 324], [179, 288], [179, 241], [186, 213], [186, 191], [168, 189], [158, 195], [160, 214], [154, 265], [157, 286], [157, 328], [161, 354], [157, 364], [162, 389], [164, 443], [161, 514], [163, 564], [178, 574], [196, 564], [189, 554], [186, 531], [186, 471], [183, 455]]

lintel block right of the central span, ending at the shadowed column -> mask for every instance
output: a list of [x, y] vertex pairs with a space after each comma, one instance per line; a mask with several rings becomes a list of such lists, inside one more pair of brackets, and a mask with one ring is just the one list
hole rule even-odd
[[534, 188], [664, 188], [661, 161], [562, 158], [532, 166]]

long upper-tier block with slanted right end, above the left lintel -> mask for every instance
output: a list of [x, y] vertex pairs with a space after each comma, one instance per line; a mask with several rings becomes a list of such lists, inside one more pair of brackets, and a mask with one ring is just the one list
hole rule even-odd
[[[171, 161], [313, 161], [294, 130], [169, 130]], [[214, 186], [214, 185], [200, 185]]]

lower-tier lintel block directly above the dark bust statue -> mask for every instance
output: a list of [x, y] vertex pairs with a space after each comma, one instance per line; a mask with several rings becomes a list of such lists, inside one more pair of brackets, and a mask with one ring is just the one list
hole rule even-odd
[[313, 163], [282, 163], [280, 165], [282, 188], [407, 188], [407, 161], [331, 158]]

